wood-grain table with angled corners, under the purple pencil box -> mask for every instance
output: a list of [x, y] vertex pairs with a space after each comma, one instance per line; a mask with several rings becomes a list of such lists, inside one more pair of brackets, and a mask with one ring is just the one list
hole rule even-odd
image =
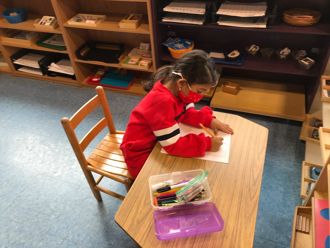
[[[119, 207], [115, 221], [141, 247], [252, 247], [268, 129], [238, 115], [220, 112], [214, 115], [235, 132], [228, 164], [170, 156], [160, 153], [157, 143]], [[159, 241], [152, 217], [149, 177], [195, 169], [209, 171], [211, 201], [224, 220], [224, 228], [220, 232]]]

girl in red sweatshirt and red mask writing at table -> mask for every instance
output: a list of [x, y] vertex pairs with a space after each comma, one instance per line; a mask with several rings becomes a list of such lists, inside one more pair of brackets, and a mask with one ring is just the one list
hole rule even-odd
[[222, 137], [205, 137], [203, 133], [180, 137], [178, 123], [211, 127], [217, 136], [220, 129], [233, 129], [212, 115], [210, 107], [194, 109], [203, 92], [215, 86], [216, 70], [211, 57], [202, 50], [192, 50], [177, 62], [159, 68], [152, 80], [143, 83], [145, 98], [133, 109], [120, 149], [127, 168], [136, 178], [153, 147], [160, 145], [170, 155], [202, 157], [205, 151], [218, 151]]

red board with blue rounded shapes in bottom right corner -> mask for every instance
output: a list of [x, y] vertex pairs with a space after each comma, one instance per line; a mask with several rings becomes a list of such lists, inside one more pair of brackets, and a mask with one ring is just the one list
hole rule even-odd
[[315, 248], [329, 247], [329, 201], [314, 198]]

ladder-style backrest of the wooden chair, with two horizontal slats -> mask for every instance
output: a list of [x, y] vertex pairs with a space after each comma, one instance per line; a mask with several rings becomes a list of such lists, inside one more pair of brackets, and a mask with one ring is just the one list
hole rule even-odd
[[[85, 103], [70, 119], [68, 117], [61, 119], [65, 133], [68, 136], [81, 166], [87, 166], [87, 161], [83, 151], [105, 127], [108, 126], [109, 132], [112, 134], [124, 134], [123, 131], [116, 131], [103, 87], [97, 86], [96, 92], [97, 95]], [[79, 142], [74, 130], [88, 114], [100, 105], [102, 106], [104, 117], [94, 127], [92, 127]]]

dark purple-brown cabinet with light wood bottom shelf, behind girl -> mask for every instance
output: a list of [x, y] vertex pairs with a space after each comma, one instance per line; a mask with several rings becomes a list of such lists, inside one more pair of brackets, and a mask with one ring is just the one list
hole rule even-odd
[[[330, 55], [330, 2], [270, 1], [277, 5], [274, 28], [242, 28], [213, 25], [210, 19], [205, 25], [163, 22], [158, 13], [166, 1], [151, 1], [157, 66], [176, 61], [168, 49], [161, 45], [169, 35], [193, 40], [195, 49], [207, 52], [231, 49], [245, 52], [245, 47], [251, 44], [306, 51], [318, 48], [316, 65], [310, 70], [301, 70], [298, 62], [291, 59], [280, 60], [275, 55], [271, 59], [263, 59], [260, 54], [256, 57], [247, 56], [241, 66], [218, 64], [223, 67], [222, 77], [228, 77], [234, 83], [240, 81], [242, 87], [236, 96], [227, 96], [219, 89], [221, 84], [218, 84], [210, 103], [218, 108], [292, 120], [305, 119]], [[244, 1], [248, 2], [239, 2]], [[282, 21], [282, 13], [294, 7], [319, 11], [323, 14], [322, 19], [307, 27], [288, 25]]]

